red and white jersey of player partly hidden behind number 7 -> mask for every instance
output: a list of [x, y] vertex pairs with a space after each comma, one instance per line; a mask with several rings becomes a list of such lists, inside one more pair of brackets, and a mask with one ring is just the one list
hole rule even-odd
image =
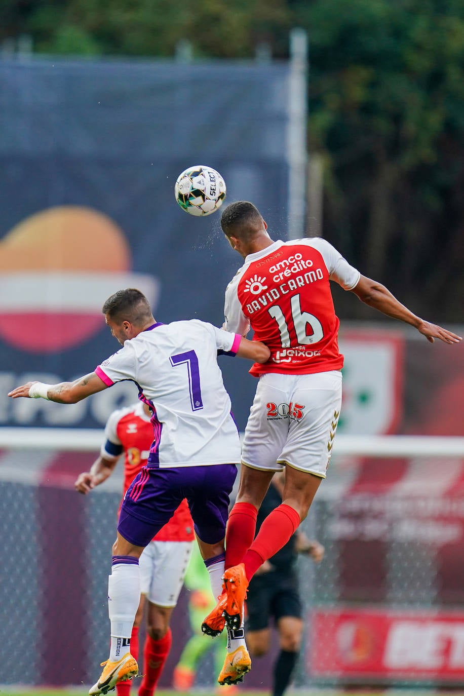
[[[113, 411], [105, 427], [105, 442], [100, 454], [104, 459], [114, 461], [124, 452], [124, 487], [130, 484], [145, 464], [150, 454], [153, 440], [153, 426], [150, 416], [138, 402], [125, 409]], [[189, 505], [184, 499], [170, 521], [153, 537], [154, 541], [193, 541], [193, 520]]]

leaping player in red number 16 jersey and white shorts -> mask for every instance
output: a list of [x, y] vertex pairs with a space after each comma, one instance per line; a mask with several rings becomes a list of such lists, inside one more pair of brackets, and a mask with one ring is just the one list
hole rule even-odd
[[[431, 342], [453, 344], [461, 338], [414, 315], [324, 239], [273, 242], [248, 201], [228, 205], [221, 227], [245, 260], [227, 286], [223, 328], [242, 335], [251, 328], [254, 340], [271, 350], [266, 363], [250, 370], [259, 383], [243, 438], [237, 502], [227, 522], [225, 592], [205, 619], [208, 626], [224, 614], [234, 627], [241, 621], [248, 581], [287, 543], [326, 477], [342, 404], [343, 366], [330, 280], [415, 326]], [[266, 517], [255, 539], [257, 510], [273, 474], [284, 467], [282, 505]]]

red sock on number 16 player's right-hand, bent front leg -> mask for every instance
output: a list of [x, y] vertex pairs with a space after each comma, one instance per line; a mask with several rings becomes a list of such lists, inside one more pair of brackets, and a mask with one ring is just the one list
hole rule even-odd
[[248, 580], [255, 575], [259, 566], [280, 551], [298, 529], [300, 516], [290, 505], [278, 505], [269, 515], [257, 533], [255, 541], [243, 558]]

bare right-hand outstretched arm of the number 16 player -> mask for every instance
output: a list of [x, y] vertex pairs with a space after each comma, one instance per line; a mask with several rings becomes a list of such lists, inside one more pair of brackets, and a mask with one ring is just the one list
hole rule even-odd
[[447, 329], [442, 329], [441, 326], [437, 324], [431, 324], [430, 322], [424, 321], [420, 317], [410, 312], [407, 307], [405, 307], [401, 302], [397, 300], [394, 295], [387, 290], [385, 285], [377, 283], [376, 280], [371, 280], [366, 276], [361, 276], [358, 285], [353, 287], [355, 295], [369, 307], [374, 307], [379, 312], [386, 314], [387, 317], [392, 317], [393, 319], [399, 319], [401, 322], [406, 322], [414, 326], [419, 333], [422, 333], [428, 341], [433, 343], [435, 338], [439, 338], [445, 343], [458, 343], [463, 340], [461, 336], [447, 331]]

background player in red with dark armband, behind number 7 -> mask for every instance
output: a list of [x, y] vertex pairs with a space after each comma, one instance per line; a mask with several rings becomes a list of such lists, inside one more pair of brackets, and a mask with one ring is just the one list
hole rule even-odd
[[[147, 404], [138, 402], [113, 411], [105, 427], [105, 442], [90, 471], [79, 474], [74, 484], [79, 493], [89, 493], [111, 476], [124, 454], [123, 492], [147, 463], [153, 439]], [[143, 618], [145, 597], [148, 599], [147, 638], [143, 651], [143, 680], [139, 696], [152, 696], [168, 658], [172, 635], [170, 617], [177, 604], [192, 551], [195, 535], [187, 501], [183, 500], [170, 521], [153, 537], [143, 551], [141, 601], [131, 635], [131, 654], [138, 657], [138, 630]], [[131, 680], [116, 684], [118, 696], [129, 696]]]

